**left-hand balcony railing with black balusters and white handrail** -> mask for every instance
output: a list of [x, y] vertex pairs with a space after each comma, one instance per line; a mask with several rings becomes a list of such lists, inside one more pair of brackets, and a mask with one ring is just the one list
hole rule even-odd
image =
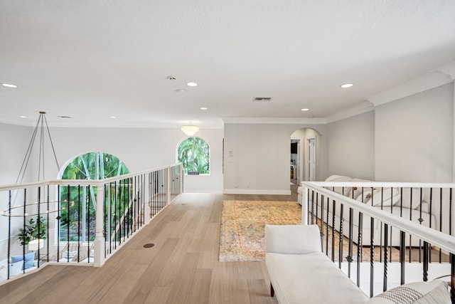
[[182, 193], [182, 181], [176, 164], [102, 180], [0, 187], [8, 206], [0, 216], [1, 226], [8, 227], [0, 242], [0, 280], [43, 263], [102, 266]]

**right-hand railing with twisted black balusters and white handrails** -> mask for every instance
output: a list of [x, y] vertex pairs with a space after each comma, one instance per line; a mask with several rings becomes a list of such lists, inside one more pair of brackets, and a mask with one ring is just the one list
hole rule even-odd
[[[354, 283], [373, 296], [407, 281], [447, 276], [454, 293], [455, 272], [451, 261], [455, 238], [451, 236], [450, 214], [454, 184], [338, 185], [303, 182], [304, 199], [307, 199], [303, 206], [307, 212], [302, 220], [319, 225], [323, 252], [338, 263]], [[402, 199], [406, 188], [411, 193], [407, 201]], [[438, 189], [437, 199], [434, 189]], [[359, 192], [357, 199], [353, 198], [353, 191]], [[395, 194], [398, 198], [393, 195], [395, 191], [400, 192]], [[427, 216], [422, 206], [426, 193], [429, 194]], [[374, 200], [375, 195], [380, 199]], [[387, 202], [392, 197], [396, 201]], [[419, 201], [421, 206], [415, 204], [417, 209], [412, 209], [412, 201]]]

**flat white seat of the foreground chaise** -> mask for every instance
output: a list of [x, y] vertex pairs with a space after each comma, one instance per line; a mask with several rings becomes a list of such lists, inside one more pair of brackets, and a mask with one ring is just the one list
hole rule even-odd
[[366, 303], [368, 297], [324, 253], [267, 253], [278, 303]]

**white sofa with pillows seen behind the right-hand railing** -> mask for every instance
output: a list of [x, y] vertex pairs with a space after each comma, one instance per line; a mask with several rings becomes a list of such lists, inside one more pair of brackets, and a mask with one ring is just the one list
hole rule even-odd
[[[352, 177], [345, 177], [341, 175], [332, 175], [326, 179], [326, 182], [371, 182], [366, 179], [355, 179]], [[412, 221], [420, 223], [419, 219], [422, 219], [423, 226], [429, 226], [430, 218], [432, 221], [432, 226], [437, 226], [437, 219], [434, 215], [429, 214], [429, 203], [426, 201], [425, 194], [423, 194], [422, 199], [420, 196], [420, 189], [409, 189], [403, 188], [402, 193], [398, 188], [373, 188], [373, 192], [370, 187], [327, 187], [327, 189], [333, 190], [338, 194], [343, 194], [344, 196], [348, 196], [352, 199], [356, 199], [357, 201], [361, 201], [364, 204], [368, 204], [373, 206], [375, 209], [382, 209], [386, 212], [392, 212], [399, 216], [402, 214], [402, 217], [405, 219], [412, 219]], [[299, 187], [299, 204], [302, 203], [302, 194], [303, 194], [303, 187]], [[382, 199], [384, 196], [384, 199]], [[412, 200], [411, 200], [412, 198]], [[309, 198], [311, 200], [311, 197]], [[316, 203], [316, 201], [314, 202]], [[318, 203], [318, 210], [317, 216], [321, 217], [321, 198], [317, 201]], [[311, 204], [311, 201], [310, 201]], [[324, 221], [327, 218], [327, 203], [326, 201], [322, 204], [323, 205], [323, 212], [322, 216]], [[333, 206], [332, 201], [329, 201], [329, 208], [328, 208], [328, 225], [331, 226], [333, 224], [332, 214], [333, 214]], [[311, 208], [311, 205], [309, 206]], [[422, 209], [422, 216], [420, 209]], [[314, 208], [314, 212], [316, 212], [316, 208]], [[340, 204], [336, 204], [336, 213], [335, 213], [335, 229], [339, 231], [340, 227]], [[309, 219], [311, 221], [311, 218]], [[353, 211], [353, 241], [354, 243], [358, 243], [358, 224], [359, 224], [359, 216], [357, 211]], [[380, 244], [384, 244], [384, 240], [380, 239], [381, 229], [383, 226], [380, 222], [375, 221], [373, 226], [373, 244], [378, 246]], [[343, 235], [349, 236], [349, 209], [345, 208], [343, 210]], [[390, 236], [391, 235], [391, 236]], [[363, 239], [362, 244], [364, 246], [369, 246], [371, 243], [370, 241], [370, 216], [363, 216]], [[391, 229], [389, 227], [389, 238], [387, 241], [388, 245], [391, 246], [400, 246], [400, 231], [398, 229]], [[412, 238], [411, 243], [409, 237], [406, 238], [405, 241], [406, 246], [419, 246], [419, 239]]]

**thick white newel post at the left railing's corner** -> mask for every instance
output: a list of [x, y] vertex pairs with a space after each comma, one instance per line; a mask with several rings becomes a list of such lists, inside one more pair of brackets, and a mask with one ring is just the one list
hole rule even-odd
[[103, 225], [103, 205], [105, 203], [105, 187], [102, 184], [97, 185], [97, 210], [95, 222], [95, 256], [93, 266], [101, 267], [105, 263], [105, 236]]

